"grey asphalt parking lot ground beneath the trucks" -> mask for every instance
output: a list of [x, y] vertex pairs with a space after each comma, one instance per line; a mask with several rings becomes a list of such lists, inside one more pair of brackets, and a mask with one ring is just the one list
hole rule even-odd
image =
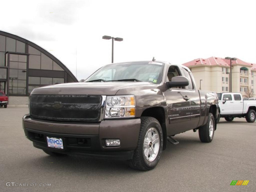
[[[256, 123], [243, 118], [221, 118], [211, 143], [201, 143], [193, 131], [176, 135], [179, 144], [168, 143], [157, 167], [141, 172], [124, 161], [48, 156], [24, 136], [21, 120], [27, 112], [0, 108], [0, 191], [255, 191]], [[232, 180], [249, 183], [230, 186]]]

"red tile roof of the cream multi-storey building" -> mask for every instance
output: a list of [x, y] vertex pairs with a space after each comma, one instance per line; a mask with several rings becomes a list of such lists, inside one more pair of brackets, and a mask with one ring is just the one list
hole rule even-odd
[[[245, 61], [242, 61], [241, 59], [231, 61], [232, 64], [241, 64], [241, 65], [246, 65], [248, 67], [252, 67], [251, 63], [247, 63]], [[187, 63], [182, 64], [186, 67], [191, 67], [191, 66], [197, 66], [197, 65], [207, 65], [207, 66], [230, 66], [230, 60], [229, 59], [223, 59], [220, 57], [209, 57], [207, 59], [203, 58], [198, 58], [194, 59], [192, 61], [189, 61]], [[255, 65], [255, 66], [254, 66]], [[256, 64], [253, 64], [254, 67], [256, 67]]]

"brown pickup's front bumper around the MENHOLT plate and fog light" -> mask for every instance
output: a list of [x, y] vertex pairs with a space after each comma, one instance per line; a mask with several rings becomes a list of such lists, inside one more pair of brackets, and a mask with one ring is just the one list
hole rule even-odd
[[[137, 147], [140, 119], [115, 119], [101, 122], [64, 122], [23, 117], [26, 137], [36, 148], [65, 154], [97, 158], [131, 159]], [[62, 138], [64, 150], [47, 146], [46, 136]], [[105, 139], [120, 139], [119, 147], [106, 147]]]

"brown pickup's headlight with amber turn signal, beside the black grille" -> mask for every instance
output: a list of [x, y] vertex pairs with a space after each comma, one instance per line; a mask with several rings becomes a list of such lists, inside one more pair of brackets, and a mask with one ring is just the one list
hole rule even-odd
[[135, 117], [134, 95], [107, 96], [105, 118]]

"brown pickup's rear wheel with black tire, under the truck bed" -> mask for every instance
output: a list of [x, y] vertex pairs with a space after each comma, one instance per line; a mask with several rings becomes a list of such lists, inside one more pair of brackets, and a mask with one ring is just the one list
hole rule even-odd
[[198, 134], [201, 142], [210, 143], [213, 140], [215, 129], [215, 121], [212, 113], [209, 113], [205, 125], [199, 127]]

